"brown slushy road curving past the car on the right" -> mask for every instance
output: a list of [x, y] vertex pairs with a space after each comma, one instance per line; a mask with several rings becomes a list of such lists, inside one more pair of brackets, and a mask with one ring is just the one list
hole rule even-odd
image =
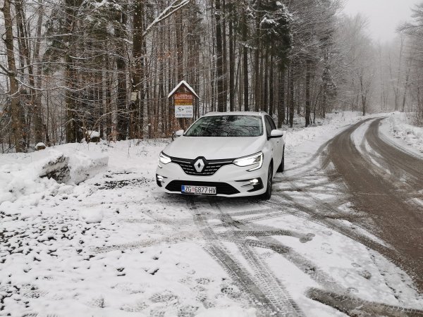
[[[422, 291], [423, 207], [412, 203], [410, 193], [421, 196], [423, 161], [384, 142], [379, 135], [381, 120], [370, 123], [363, 140], [379, 154], [379, 166], [369, 159], [374, 154], [360, 152], [353, 142], [353, 132], [365, 121], [331, 140], [328, 159], [345, 181], [357, 209], [373, 220], [372, 233], [396, 249], [388, 256], [412, 275]], [[385, 168], [397, 173], [387, 178]]]

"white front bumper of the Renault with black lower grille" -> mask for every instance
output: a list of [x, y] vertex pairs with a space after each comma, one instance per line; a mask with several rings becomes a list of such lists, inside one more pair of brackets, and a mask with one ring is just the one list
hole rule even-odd
[[[233, 164], [222, 166], [214, 175], [187, 175], [177, 163], [168, 163], [157, 167], [157, 185], [169, 194], [183, 194], [182, 185], [216, 187], [220, 197], [248, 197], [266, 192], [267, 170], [260, 168], [248, 172], [249, 167], [239, 167]], [[254, 180], [254, 181], [253, 181]]]

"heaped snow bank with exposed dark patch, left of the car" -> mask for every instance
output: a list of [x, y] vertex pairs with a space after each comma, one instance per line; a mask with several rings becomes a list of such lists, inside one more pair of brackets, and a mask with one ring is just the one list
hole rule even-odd
[[66, 146], [58, 149], [0, 155], [0, 212], [13, 214], [19, 206], [37, 206], [48, 195], [69, 194], [73, 186], [66, 183], [92, 178], [108, 163], [104, 154], [88, 155]]

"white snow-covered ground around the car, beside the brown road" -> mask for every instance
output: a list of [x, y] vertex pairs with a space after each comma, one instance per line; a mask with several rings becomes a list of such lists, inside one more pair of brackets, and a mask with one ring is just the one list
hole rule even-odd
[[[283, 178], [305, 170], [324, 142], [364, 119], [357, 113], [330, 117], [317, 127], [287, 130]], [[422, 308], [403, 271], [304, 217], [287, 197], [266, 205], [159, 192], [157, 156], [167, 142], [66, 144], [0, 155], [0, 316], [256, 316], [238, 271], [216, 250], [240, 275], [269, 287], [275, 302], [292, 299], [307, 316], [344, 316], [310, 299], [314, 289]], [[46, 163], [62, 155], [70, 169], [66, 184], [39, 178]], [[309, 206], [336, 199], [336, 188], [315, 175], [291, 184], [307, 182], [322, 187], [307, 198]], [[238, 229], [224, 218], [250, 232], [276, 230], [274, 240], [289, 251], [266, 249], [267, 240], [254, 233], [235, 235]]]

